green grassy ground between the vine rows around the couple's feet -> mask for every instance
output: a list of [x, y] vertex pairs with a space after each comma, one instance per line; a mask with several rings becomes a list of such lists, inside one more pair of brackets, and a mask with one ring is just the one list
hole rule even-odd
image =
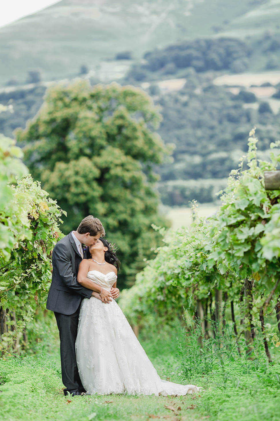
[[0, 360], [1, 421], [279, 421], [280, 355], [271, 349], [269, 364], [261, 338], [250, 359], [244, 341], [239, 356], [230, 336], [209, 339], [201, 350], [199, 332], [189, 326], [187, 341], [179, 322], [147, 327], [140, 342], [161, 378], [197, 384], [203, 392], [185, 397], [64, 397], [56, 329], [53, 318], [41, 319], [29, 331], [29, 338], [37, 341], [28, 352]]

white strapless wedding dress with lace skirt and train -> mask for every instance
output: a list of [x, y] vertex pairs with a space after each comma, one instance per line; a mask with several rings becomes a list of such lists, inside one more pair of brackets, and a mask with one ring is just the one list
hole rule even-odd
[[[116, 274], [91, 270], [87, 277], [110, 291]], [[76, 340], [79, 376], [89, 394], [185, 395], [200, 388], [161, 380], [122, 310], [95, 297], [82, 301]]]

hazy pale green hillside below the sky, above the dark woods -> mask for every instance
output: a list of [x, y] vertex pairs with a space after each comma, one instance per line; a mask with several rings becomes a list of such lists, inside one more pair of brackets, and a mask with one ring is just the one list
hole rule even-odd
[[24, 82], [30, 68], [44, 80], [73, 77], [80, 66], [131, 51], [198, 37], [279, 32], [280, 0], [62, 0], [0, 28], [0, 84]]

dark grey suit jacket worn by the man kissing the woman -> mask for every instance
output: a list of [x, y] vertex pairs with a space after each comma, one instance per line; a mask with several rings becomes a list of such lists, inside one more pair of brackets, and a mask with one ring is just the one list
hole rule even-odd
[[77, 281], [82, 257], [71, 233], [58, 241], [53, 248], [52, 283], [47, 299], [47, 309], [61, 314], [73, 314], [83, 298], [90, 298], [89, 290]]

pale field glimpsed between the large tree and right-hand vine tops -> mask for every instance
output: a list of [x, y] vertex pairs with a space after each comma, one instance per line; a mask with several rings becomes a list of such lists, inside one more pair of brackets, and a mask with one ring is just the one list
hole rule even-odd
[[[218, 206], [201, 205], [198, 208], [198, 216], [201, 218], [207, 218], [217, 212], [218, 209]], [[166, 217], [171, 221], [172, 229], [178, 229], [181, 226], [190, 226], [193, 222], [192, 210], [190, 208], [169, 208], [169, 210], [167, 210]]]

